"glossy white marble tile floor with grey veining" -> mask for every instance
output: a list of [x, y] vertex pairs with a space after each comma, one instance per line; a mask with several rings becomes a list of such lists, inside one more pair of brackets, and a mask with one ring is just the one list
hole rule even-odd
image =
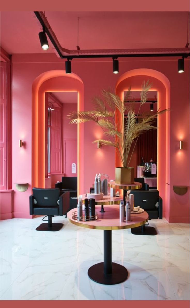
[[103, 261], [103, 231], [72, 225], [38, 232], [42, 217], [0, 223], [1, 300], [188, 300], [189, 225], [151, 220], [156, 236], [112, 232], [112, 261], [128, 279], [113, 286], [93, 282], [88, 268]]

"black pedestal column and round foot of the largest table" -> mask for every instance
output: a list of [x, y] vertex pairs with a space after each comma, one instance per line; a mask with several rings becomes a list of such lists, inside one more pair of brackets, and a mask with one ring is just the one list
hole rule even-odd
[[111, 230], [103, 231], [104, 260], [92, 265], [88, 270], [88, 276], [95, 282], [103, 285], [115, 285], [127, 279], [127, 269], [118, 263], [112, 263], [111, 257]]

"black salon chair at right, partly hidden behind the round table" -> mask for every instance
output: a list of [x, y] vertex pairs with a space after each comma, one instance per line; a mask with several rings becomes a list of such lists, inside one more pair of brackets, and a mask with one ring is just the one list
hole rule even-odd
[[[134, 206], [140, 206], [149, 216], [149, 219], [162, 219], [162, 198], [158, 190], [131, 190], [134, 195]], [[138, 214], [137, 214], [138, 215]], [[156, 235], [156, 229], [142, 225], [131, 229], [133, 234]]]

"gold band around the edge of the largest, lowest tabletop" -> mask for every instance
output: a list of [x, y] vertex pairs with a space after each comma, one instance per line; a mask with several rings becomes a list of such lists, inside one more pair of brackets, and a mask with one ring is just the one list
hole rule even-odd
[[135, 223], [134, 225], [124, 225], [124, 226], [94, 226], [94, 225], [87, 225], [85, 223], [79, 222], [79, 221], [73, 221], [72, 219], [68, 218], [68, 221], [71, 222], [71, 224], [78, 225], [83, 228], [89, 228], [89, 229], [98, 229], [98, 230], [121, 230], [121, 229], [132, 229], [136, 228], [139, 226], [144, 225], [147, 221], [148, 218], [145, 219], [144, 221], [140, 221]]

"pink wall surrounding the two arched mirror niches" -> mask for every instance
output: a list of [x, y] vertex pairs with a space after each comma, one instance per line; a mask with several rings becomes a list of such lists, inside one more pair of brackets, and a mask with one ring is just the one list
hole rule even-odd
[[[72, 72], [84, 83], [84, 110], [92, 107], [91, 97], [99, 95], [102, 88], [115, 87], [123, 73], [136, 68], [150, 68], [160, 71], [171, 84], [171, 125], [170, 125], [170, 212], [169, 221], [189, 221], [189, 189], [184, 196], [173, 192], [173, 185], [189, 186], [189, 60], [185, 60], [184, 74], [177, 73], [177, 61], [174, 59], [146, 58], [119, 60], [119, 74], [112, 73], [112, 61], [101, 59], [72, 61]], [[34, 79], [45, 71], [63, 69], [63, 60], [53, 54], [13, 55], [13, 183], [26, 181], [31, 184], [31, 87]], [[30, 72], [30, 74], [28, 73]], [[180, 106], [180, 107], [179, 107]], [[183, 106], [183, 108], [182, 108]], [[180, 155], [176, 146], [183, 134], [186, 148]], [[92, 144], [95, 138], [103, 137], [103, 133], [94, 123], [84, 125], [84, 191], [91, 187], [95, 173], [107, 173], [110, 179], [115, 178], [115, 151], [111, 147], [97, 148]], [[18, 140], [26, 142], [25, 148], [18, 148]], [[13, 189], [15, 189], [13, 184]], [[15, 191], [15, 217], [29, 216], [29, 195]], [[183, 211], [181, 210], [183, 209]]]

